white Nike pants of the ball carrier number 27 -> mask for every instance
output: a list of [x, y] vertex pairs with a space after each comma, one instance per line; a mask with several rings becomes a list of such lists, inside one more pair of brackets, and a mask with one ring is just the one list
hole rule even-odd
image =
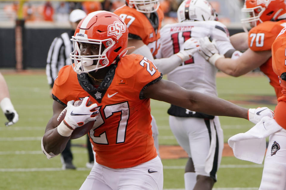
[[159, 156], [130, 168], [113, 169], [94, 163], [80, 190], [162, 190], [163, 165]]

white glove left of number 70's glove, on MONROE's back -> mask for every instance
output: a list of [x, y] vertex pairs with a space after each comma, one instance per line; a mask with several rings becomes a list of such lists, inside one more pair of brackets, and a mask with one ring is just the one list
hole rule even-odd
[[195, 52], [197, 52], [199, 50], [200, 44], [198, 42], [197, 39], [195, 38], [190, 38], [188, 40], [186, 40], [186, 42], [184, 42], [183, 44], [183, 49], [179, 51], [178, 53], [176, 53], [175, 55], [179, 56], [182, 61], [187, 61], [190, 58], [192, 58], [192, 56], [194, 55]]

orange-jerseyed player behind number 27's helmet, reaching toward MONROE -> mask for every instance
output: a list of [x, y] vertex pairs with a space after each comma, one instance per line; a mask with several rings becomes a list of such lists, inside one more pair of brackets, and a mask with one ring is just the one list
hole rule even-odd
[[[149, 58], [155, 63], [159, 71], [164, 75], [181, 65], [183, 61], [190, 59], [192, 50], [181, 50], [165, 59], [155, 59], [160, 48], [160, 28], [164, 13], [159, 7], [159, 0], [127, 0], [126, 4], [114, 11], [122, 18], [128, 27], [128, 46], [134, 46], [128, 54], [135, 53]], [[155, 147], [159, 153], [158, 127], [152, 116], [152, 131]]]

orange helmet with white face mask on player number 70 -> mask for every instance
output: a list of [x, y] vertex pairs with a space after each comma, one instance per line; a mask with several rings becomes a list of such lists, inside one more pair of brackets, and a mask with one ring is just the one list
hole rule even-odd
[[[286, 18], [285, 0], [245, 0], [242, 12], [250, 14], [250, 17], [241, 19], [245, 23], [254, 22], [255, 26], [267, 20], [279, 20]], [[247, 29], [246, 29], [247, 31]]]

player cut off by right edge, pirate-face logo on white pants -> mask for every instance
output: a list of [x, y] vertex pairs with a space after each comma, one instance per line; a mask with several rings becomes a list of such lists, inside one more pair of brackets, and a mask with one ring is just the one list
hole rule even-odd
[[279, 77], [282, 96], [274, 111], [274, 124], [283, 127], [280, 131], [269, 136], [268, 149], [264, 160], [262, 180], [259, 189], [284, 190], [286, 186], [286, 28], [282, 29], [272, 44], [272, 68]]

